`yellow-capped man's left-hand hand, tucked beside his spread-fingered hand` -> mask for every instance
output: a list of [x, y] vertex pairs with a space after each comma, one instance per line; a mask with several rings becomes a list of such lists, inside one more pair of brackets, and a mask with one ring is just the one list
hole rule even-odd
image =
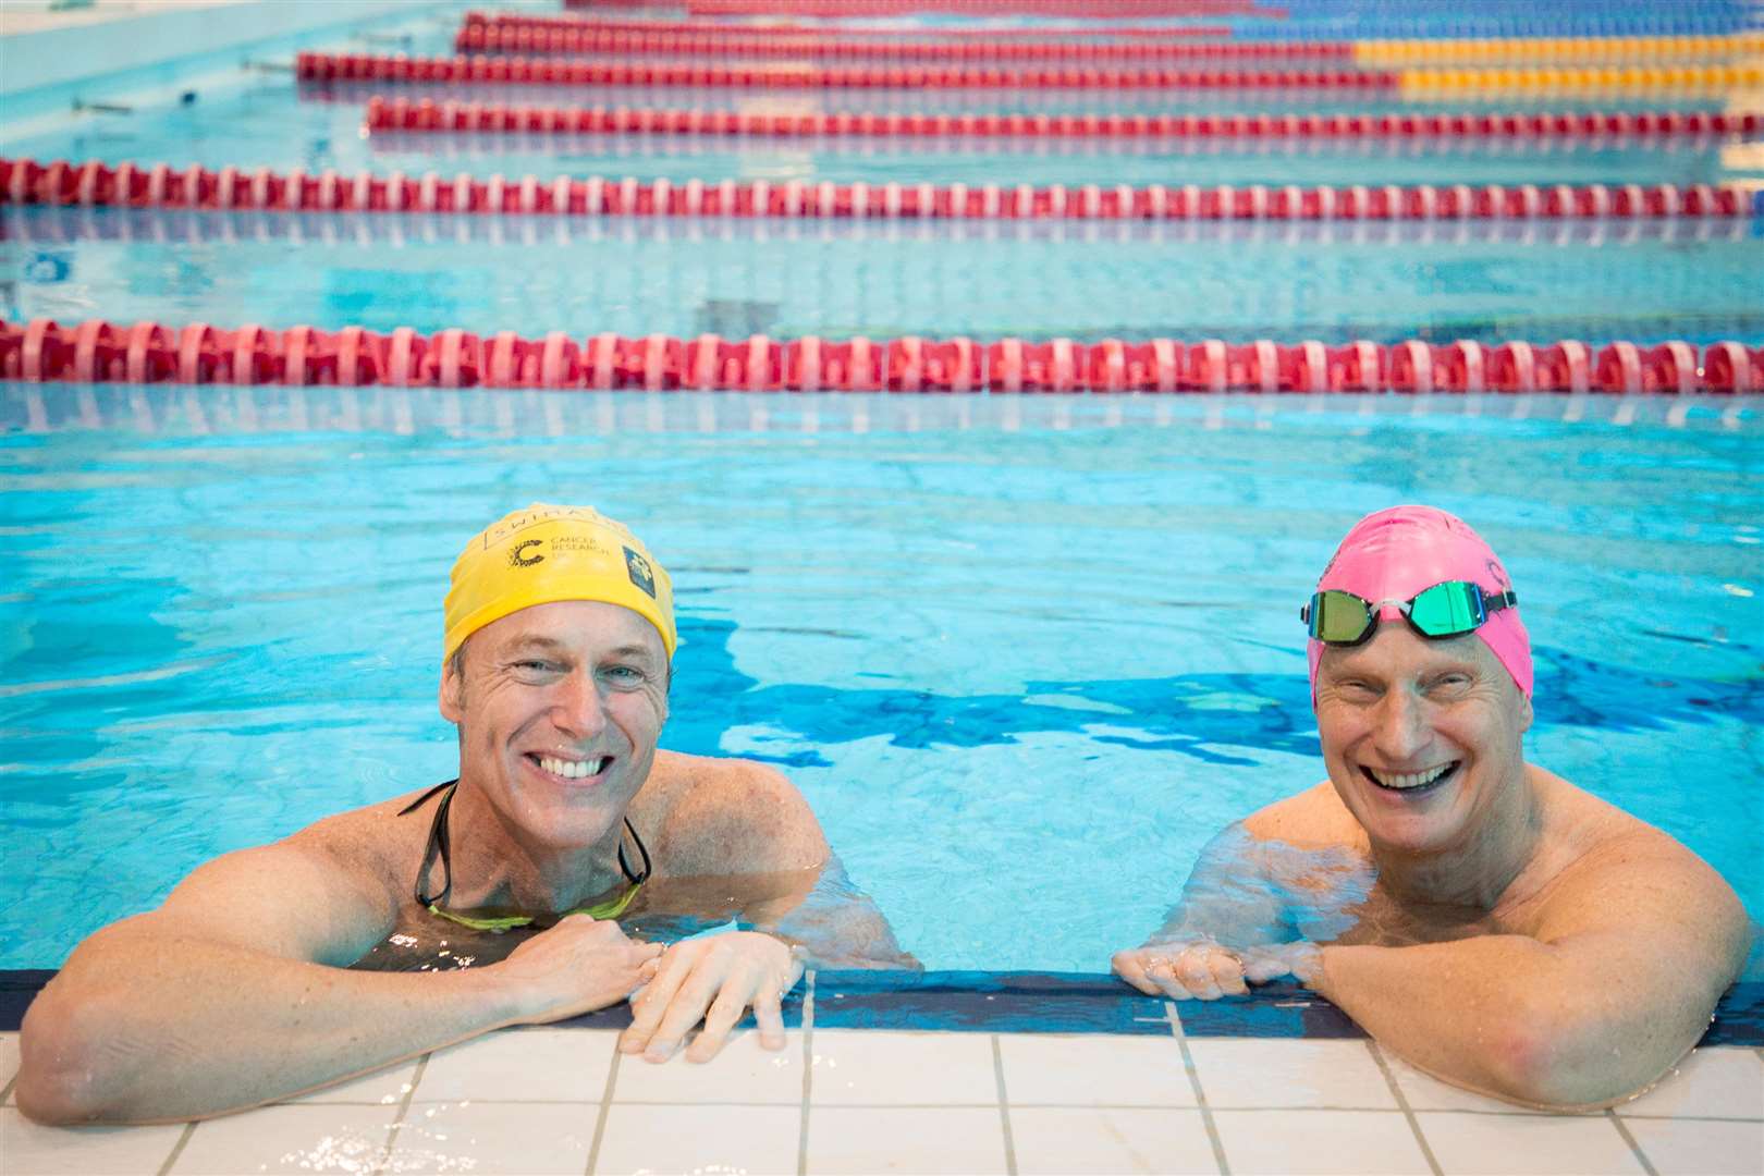
[[570, 915], [487, 970], [519, 986], [522, 1021], [543, 1024], [619, 1003], [654, 979], [660, 956], [610, 919]]

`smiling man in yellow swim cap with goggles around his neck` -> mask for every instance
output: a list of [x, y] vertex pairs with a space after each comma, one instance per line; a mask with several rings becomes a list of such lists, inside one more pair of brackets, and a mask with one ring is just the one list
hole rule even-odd
[[[796, 947], [912, 966], [866, 899], [803, 906], [838, 866], [780, 772], [656, 749], [672, 582], [621, 524], [547, 504], [497, 520], [445, 614], [459, 779], [229, 853], [86, 940], [25, 1019], [26, 1114], [199, 1118], [628, 996], [619, 1049], [649, 1061], [700, 1023], [686, 1056], [709, 1060], [748, 1009], [778, 1049]], [[751, 929], [663, 950], [621, 915]]]

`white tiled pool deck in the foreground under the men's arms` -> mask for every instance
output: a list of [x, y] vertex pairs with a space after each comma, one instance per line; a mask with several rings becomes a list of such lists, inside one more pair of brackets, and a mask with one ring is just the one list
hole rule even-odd
[[647, 1065], [614, 1030], [510, 1030], [194, 1125], [46, 1128], [0, 1172], [1764, 1172], [1764, 1051], [1697, 1051], [1614, 1113], [1536, 1114], [1365, 1040], [1170, 1033], [743, 1033]]

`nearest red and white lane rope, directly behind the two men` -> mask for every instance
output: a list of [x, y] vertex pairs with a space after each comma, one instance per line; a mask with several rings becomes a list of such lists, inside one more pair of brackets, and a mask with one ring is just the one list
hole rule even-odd
[[480, 337], [459, 328], [379, 335], [358, 326], [286, 331], [208, 323], [129, 328], [0, 321], [0, 379], [26, 383], [390, 384], [427, 388], [635, 388], [734, 391], [1138, 393], [1755, 393], [1764, 347], [1685, 342], [1549, 346], [1207, 339], [674, 339], [552, 331]]

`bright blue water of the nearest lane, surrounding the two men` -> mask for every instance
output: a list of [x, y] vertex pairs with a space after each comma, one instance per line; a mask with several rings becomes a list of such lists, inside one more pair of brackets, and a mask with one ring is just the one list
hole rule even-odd
[[1297, 608], [1401, 501], [1524, 592], [1528, 756], [1757, 915], [1764, 427], [1572, 404], [7, 386], [0, 966], [450, 776], [446, 569], [533, 499], [647, 540], [663, 746], [783, 767], [931, 968], [1102, 970], [1316, 783]]

